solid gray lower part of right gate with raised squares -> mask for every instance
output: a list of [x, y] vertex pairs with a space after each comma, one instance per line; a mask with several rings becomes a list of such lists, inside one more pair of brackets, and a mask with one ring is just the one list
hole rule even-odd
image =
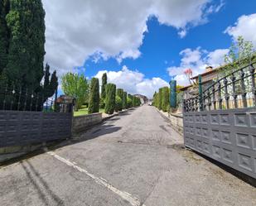
[[185, 146], [256, 178], [256, 109], [184, 115]]

